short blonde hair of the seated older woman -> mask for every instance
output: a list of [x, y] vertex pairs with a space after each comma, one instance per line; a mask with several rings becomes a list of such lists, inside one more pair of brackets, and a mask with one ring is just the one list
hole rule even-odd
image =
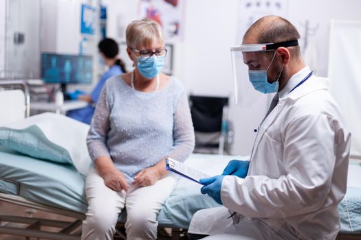
[[156, 40], [164, 45], [162, 27], [156, 21], [145, 19], [135, 20], [128, 25], [125, 32], [127, 45], [130, 48], [149, 47]]

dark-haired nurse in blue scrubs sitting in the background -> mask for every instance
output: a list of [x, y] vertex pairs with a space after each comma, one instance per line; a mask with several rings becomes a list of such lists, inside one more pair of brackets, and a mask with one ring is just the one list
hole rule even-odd
[[89, 106], [80, 108], [78, 110], [72, 110], [67, 112], [67, 117], [82, 121], [83, 123], [90, 124], [91, 118], [94, 115], [95, 105], [98, 102], [100, 91], [105, 82], [110, 77], [127, 73], [125, 65], [120, 58], [118, 58], [119, 48], [115, 40], [111, 38], [104, 38], [98, 44], [100, 58], [104, 61], [105, 65], [109, 67], [109, 70], [102, 75], [98, 84], [90, 94], [86, 95], [82, 91], [74, 91], [69, 94], [70, 99], [78, 99], [80, 101], [87, 101]]

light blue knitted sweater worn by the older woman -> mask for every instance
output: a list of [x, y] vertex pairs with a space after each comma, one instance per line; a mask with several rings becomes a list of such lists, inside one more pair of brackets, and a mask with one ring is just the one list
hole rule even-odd
[[127, 182], [164, 156], [183, 162], [194, 144], [186, 92], [175, 77], [154, 93], [136, 91], [120, 75], [102, 88], [87, 136], [89, 154], [93, 161], [111, 156]]

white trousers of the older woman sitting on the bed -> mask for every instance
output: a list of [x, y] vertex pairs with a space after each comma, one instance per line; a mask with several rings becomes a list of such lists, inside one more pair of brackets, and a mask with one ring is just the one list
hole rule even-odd
[[174, 176], [166, 176], [152, 186], [130, 186], [127, 193], [116, 192], [105, 185], [96, 169], [91, 169], [85, 184], [88, 212], [81, 239], [112, 240], [118, 215], [124, 206], [127, 209], [127, 239], [156, 239], [157, 215], [175, 184]]

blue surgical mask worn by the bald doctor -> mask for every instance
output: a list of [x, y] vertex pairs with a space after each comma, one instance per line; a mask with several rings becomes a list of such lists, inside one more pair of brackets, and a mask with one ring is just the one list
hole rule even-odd
[[[276, 54], [274, 54], [274, 56], [276, 56]], [[266, 70], [248, 70], [248, 76], [250, 77], [250, 82], [252, 83], [254, 89], [256, 89], [256, 91], [259, 91], [261, 93], [277, 93], [278, 92], [278, 88], [279, 88], [279, 77], [281, 76], [281, 73], [283, 71], [283, 67], [281, 69], [281, 72], [279, 73], [277, 80], [275, 82], [272, 82], [272, 84], [270, 84], [267, 81], [267, 70], [270, 68], [273, 60], [274, 60], [274, 56], [270, 62], [270, 65], [267, 67]]]

